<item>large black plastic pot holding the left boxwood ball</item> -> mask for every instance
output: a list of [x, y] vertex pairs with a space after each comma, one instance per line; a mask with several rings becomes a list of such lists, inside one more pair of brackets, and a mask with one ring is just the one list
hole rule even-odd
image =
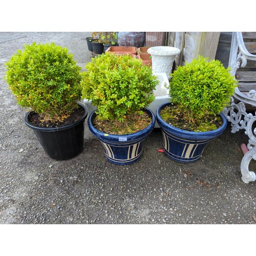
[[84, 110], [82, 118], [62, 127], [39, 127], [30, 123], [32, 112], [25, 116], [26, 125], [34, 131], [45, 152], [55, 160], [71, 159], [83, 150], [84, 120], [88, 112], [84, 105], [78, 104], [79, 108]]

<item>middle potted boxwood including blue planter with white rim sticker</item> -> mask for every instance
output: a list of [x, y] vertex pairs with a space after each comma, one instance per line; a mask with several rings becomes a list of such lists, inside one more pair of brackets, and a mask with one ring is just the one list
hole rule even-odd
[[82, 96], [96, 106], [88, 118], [90, 131], [101, 141], [106, 158], [124, 165], [137, 161], [143, 142], [155, 126], [146, 108], [155, 98], [158, 80], [141, 60], [109, 52], [86, 65]]

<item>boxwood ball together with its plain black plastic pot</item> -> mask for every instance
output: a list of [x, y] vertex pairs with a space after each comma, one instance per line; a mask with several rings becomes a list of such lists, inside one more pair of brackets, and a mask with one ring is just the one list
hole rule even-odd
[[67, 48], [25, 45], [6, 63], [6, 81], [17, 103], [29, 110], [25, 123], [53, 159], [75, 157], [83, 149], [87, 109], [81, 99], [80, 67]]

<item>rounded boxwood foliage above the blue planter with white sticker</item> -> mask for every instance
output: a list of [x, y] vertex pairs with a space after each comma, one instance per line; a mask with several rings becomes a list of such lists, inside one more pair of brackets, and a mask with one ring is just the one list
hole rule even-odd
[[154, 99], [158, 80], [152, 69], [129, 55], [105, 53], [86, 65], [82, 79], [82, 96], [97, 106], [101, 120], [124, 121]]

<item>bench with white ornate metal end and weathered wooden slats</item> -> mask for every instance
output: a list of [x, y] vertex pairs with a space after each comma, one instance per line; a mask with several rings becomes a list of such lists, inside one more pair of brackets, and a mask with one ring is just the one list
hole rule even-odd
[[[238, 80], [238, 87], [231, 97], [231, 104], [223, 112], [231, 122], [231, 132], [241, 129], [249, 137], [241, 162], [242, 180], [245, 183], [256, 180], [249, 170], [250, 161], [256, 160], [256, 32], [233, 32], [229, 56], [231, 74]], [[254, 126], [253, 123], [255, 122]]]

